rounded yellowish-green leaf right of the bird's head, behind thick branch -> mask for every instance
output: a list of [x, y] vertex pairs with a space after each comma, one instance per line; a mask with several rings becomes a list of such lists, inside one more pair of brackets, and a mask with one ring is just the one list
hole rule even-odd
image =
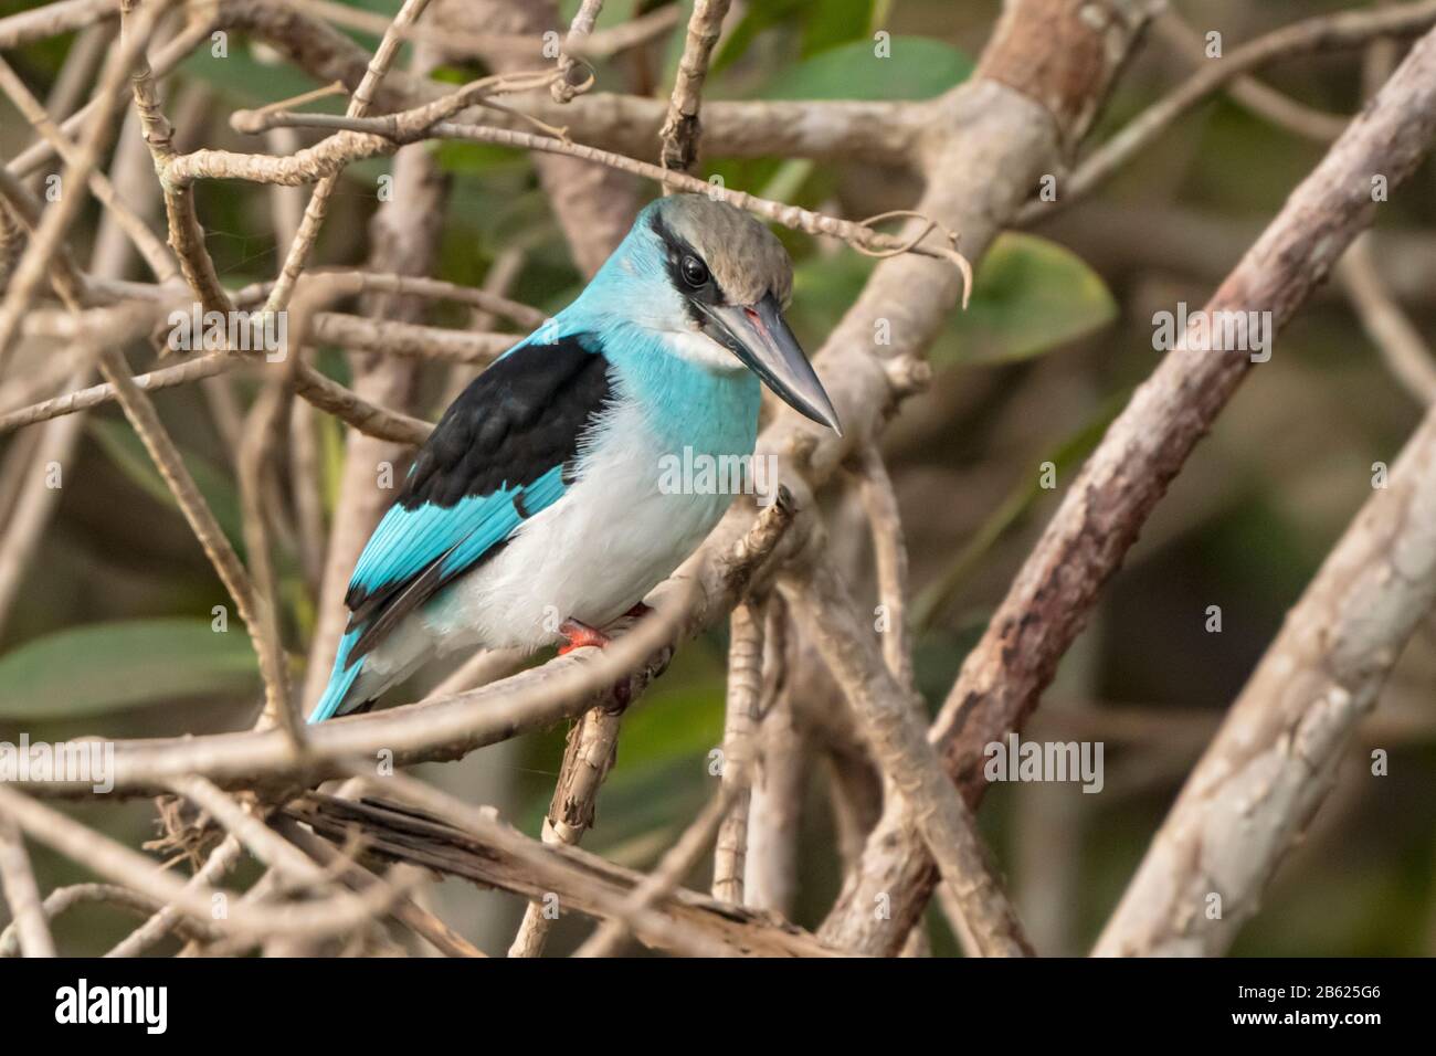
[[1007, 231], [982, 257], [972, 303], [954, 318], [954, 342], [936, 363], [1027, 359], [1111, 322], [1117, 305], [1101, 277], [1071, 250], [1035, 234]]

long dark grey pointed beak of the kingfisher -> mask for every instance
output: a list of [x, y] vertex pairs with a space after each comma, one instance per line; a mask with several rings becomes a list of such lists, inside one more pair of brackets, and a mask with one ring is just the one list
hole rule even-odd
[[757, 305], [698, 305], [698, 309], [707, 316], [704, 333], [738, 356], [783, 402], [843, 435], [833, 401], [771, 293]]

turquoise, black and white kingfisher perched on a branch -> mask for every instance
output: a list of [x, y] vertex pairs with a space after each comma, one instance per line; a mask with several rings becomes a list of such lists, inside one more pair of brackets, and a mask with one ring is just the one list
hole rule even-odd
[[309, 721], [368, 710], [435, 657], [602, 647], [640, 615], [732, 501], [665, 487], [661, 467], [751, 455], [760, 379], [841, 432], [783, 318], [791, 292], [787, 251], [748, 213], [691, 194], [645, 207], [419, 448], [355, 565]]

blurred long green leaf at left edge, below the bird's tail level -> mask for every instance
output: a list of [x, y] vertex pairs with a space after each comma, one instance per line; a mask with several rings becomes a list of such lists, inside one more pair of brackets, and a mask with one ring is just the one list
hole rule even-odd
[[204, 619], [89, 624], [0, 657], [0, 718], [83, 718], [257, 685], [243, 626], [220, 634]]

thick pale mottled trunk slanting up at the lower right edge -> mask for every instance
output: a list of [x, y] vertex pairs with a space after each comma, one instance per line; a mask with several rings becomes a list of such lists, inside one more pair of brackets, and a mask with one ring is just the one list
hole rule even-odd
[[1147, 849], [1099, 955], [1226, 953], [1335, 786], [1353, 728], [1433, 602], [1436, 411], [1287, 613]]

